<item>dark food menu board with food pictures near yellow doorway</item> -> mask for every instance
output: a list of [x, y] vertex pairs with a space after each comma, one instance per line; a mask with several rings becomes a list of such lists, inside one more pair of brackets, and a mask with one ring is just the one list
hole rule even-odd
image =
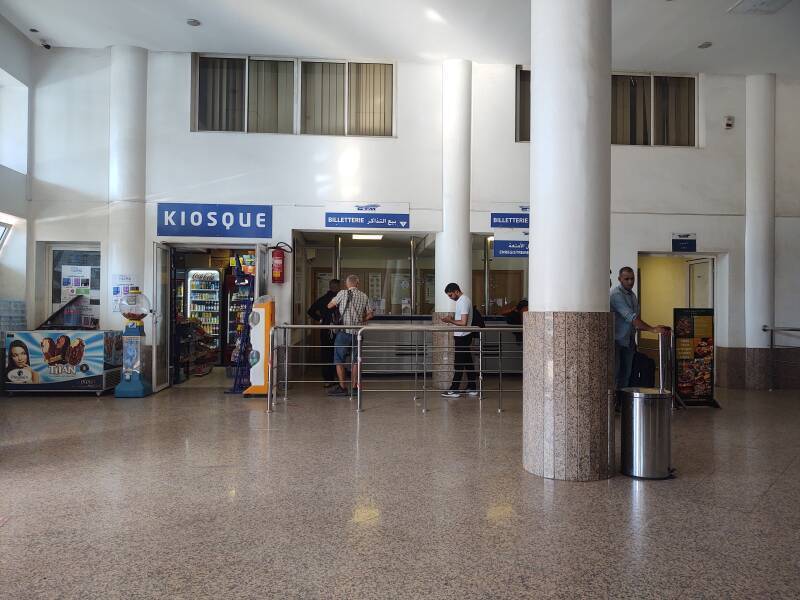
[[675, 378], [682, 400], [714, 400], [714, 310], [676, 308]]

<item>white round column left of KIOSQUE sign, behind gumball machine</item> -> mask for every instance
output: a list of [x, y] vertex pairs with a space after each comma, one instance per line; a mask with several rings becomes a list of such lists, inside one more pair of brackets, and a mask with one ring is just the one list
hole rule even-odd
[[[108, 155], [108, 278], [131, 275], [144, 286], [145, 165], [147, 133], [147, 50], [111, 47]], [[125, 319], [107, 307], [103, 327], [121, 328]]]

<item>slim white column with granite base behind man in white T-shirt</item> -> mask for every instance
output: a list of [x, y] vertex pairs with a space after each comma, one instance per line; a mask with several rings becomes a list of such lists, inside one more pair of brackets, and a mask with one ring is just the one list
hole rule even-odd
[[[436, 234], [434, 324], [452, 314], [454, 302], [444, 293], [455, 282], [472, 297], [472, 241], [470, 217], [470, 163], [472, 141], [472, 62], [446, 60], [442, 64], [442, 231]], [[435, 363], [452, 364], [452, 334], [434, 334]], [[434, 383], [445, 388], [452, 374], [439, 367]]]

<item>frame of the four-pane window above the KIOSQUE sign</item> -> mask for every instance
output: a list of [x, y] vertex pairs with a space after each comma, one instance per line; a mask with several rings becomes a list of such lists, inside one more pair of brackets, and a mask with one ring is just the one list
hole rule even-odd
[[[214, 131], [199, 128], [199, 96], [200, 96], [200, 58], [238, 58], [245, 61], [244, 69], [244, 130], [243, 131]], [[250, 101], [250, 61], [251, 60], [272, 60], [278, 62], [294, 63], [294, 93], [292, 95], [292, 133], [277, 132], [251, 132], [248, 123], [248, 108]], [[191, 82], [190, 82], [190, 123], [189, 131], [192, 133], [211, 133], [211, 134], [259, 134], [259, 135], [323, 135], [318, 133], [303, 133], [302, 131], [302, 94], [303, 94], [303, 63], [338, 63], [343, 64], [344, 68], [344, 135], [325, 135], [324, 137], [353, 137], [353, 138], [397, 138], [397, 61], [376, 59], [376, 58], [314, 58], [303, 56], [275, 56], [271, 54], [227, 54], [220, 52], [193, 52], [191, 59]], [[352, 135], [350, 134], [350, 63], [357, 64], [382, 64], [392, 66], [392, 132], [391, 135]]]

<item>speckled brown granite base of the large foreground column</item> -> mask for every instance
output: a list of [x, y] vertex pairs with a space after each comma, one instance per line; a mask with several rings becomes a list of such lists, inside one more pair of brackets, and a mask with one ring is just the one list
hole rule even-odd
[[611, 477], [612, 314], [527, 312], [523, 329], [525, 470], [566, 481]]

